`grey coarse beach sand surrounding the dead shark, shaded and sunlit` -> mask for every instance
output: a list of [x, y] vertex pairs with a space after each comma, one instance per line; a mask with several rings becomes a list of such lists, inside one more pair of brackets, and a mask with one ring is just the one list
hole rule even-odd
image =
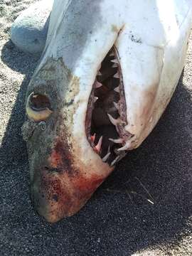
[[77, 215], [50, 225], [31, 205], [21, 137], [38, 58], [9, 41], [11, 23], [32, 2], [0, 0], [0, 255], [191, 255], [192, 38], [174, 97], [149, 138]]

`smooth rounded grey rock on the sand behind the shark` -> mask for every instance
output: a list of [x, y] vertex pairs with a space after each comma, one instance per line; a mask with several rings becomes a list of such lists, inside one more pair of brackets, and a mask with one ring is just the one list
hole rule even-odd
[[22, 51], [40, 54], [46, 44], [53, 0], [43, 0], [23, 11], [11, 27], [11, 41]]

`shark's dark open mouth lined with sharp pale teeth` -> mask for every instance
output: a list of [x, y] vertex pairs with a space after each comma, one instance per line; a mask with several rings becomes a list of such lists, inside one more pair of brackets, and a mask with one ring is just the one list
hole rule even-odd
[[92, 149], [103, 162], [114, 166], [126, 155], [127, 107], [117, 49], [107, 53], [100, 65], [87, 105], [85, 130]]

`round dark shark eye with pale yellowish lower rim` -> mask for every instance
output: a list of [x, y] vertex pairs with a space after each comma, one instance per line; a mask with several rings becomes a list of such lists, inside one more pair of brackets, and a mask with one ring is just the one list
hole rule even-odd
[[51, 110], [50, 100], [46, 95], [34, 94], [28, 96], [26, 104], [26, 113], [29, 119], [40, 122], [48, 119]]

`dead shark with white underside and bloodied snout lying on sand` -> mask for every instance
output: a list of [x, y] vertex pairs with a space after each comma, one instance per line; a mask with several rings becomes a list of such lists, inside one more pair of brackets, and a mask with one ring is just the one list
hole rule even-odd
[[[155, 127], [185, 64], [191, 17], [185, 0], [54, 1], [23, 124], [31, 198], [48, 222], [77, 213], [117, 161]], [[112, 81], [119, 83], [109, 91], [119, 97], [118, 117], [106, 112], [97, 125], [95, 112], [104, 109], [95, 105], [105, 95], [105, 108], [110, 98], [102, 81], [108, 60]], [[118, 147], [97, 137], [97, 127], [112, 129], [118, 137], [109, 141]]]

